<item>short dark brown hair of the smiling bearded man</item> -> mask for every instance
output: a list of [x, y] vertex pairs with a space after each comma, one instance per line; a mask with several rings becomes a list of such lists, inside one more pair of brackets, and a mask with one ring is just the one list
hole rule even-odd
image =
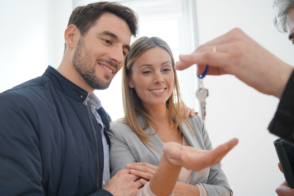
[[[138, 34], [138, 15], [131, 8], [122, 6], [117, 2], [104, 1], [91, 3], [86, 6], [78, 6], [71, 13], [67, 26], [71, 24], [76, 25], [81, 36], [83, 36], [96, 24], [97, 19], [105, 13], [114, 14], [118, 18], [126, 21], [131, 30], [131, 35], [136, 37]], [[64, 45], [64, 51], [65, 48], [66, 43]]]

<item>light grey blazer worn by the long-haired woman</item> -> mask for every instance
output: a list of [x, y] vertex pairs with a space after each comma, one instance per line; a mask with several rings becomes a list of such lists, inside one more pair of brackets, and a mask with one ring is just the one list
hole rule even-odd
[[[198, 149], [212, 150], [212, 144], [208, 137], [202, 119], [195, 115], [188, 118], [195, 131], [191, 134], [189, 128], [183, 123], [182, 133], [189, 144]], [[142, 125], [142, 116], [138, 116], [138, 122]], [[179, 125], [180, 126], [180, 125]], [[150, 129], [144, 130], [146, 134]], [[125, 169], [126, 164], [134, 162], [146, 162], [152, 165], [159, 165], [163, 143], [155, 131], [151, 130], [150, 139], [155, 143], [148, 142], [157, 150], [148, 145], [144, 145], [131, 128], [121, 122], [113, 122], [108, 130], [111, 141], [110, 147], [110, 176], [113, 177], [119, 170]], [[221, 163], [205, 168], [200, 172], [192, 172], [189, 184], [196, 185], [202, 183], [209, 196], [232, 196], [233, 192], [228, 184], [227, 177], [221, 169]]]

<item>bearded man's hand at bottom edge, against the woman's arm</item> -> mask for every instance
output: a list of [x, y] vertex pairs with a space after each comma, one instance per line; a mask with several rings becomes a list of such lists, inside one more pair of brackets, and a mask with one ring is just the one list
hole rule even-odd
[[105, 190], [111, 192], [114, 196], [136, 196], [143, 184], [140, 182], [141, 177], [131, 174], [130, 169], [120, 170], [114, 175]]

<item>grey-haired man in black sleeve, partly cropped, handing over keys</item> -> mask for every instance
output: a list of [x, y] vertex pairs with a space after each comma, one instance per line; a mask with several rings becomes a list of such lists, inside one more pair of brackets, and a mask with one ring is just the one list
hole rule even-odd
[[[274, 25], [288, 33], [294, 43], [294, 0], [275, 0]], [[240, 29], [220, 36], [197, 48], [191, 55], [180, 55], [176, 69], [183, 70], [193, 64], [198, 74], [209, 64], [210, 75], [233, 74], [256, 90], [280, 99], [275, 116], [270, 123], [271, 133], [294, 144], [294, 72], [265, 48], [253, 41]], [[277, 189], [278, 195], [294, 195], [294, 189], [284, 181]]]

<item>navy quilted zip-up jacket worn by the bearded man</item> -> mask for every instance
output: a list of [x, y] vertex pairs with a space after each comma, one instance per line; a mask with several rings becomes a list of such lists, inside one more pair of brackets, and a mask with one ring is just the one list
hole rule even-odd
[[[0, 94], [0, 195], [111, 195], [87, 96], [51, 66]], [[110, 117], [97, 111], [105, 132]]]

